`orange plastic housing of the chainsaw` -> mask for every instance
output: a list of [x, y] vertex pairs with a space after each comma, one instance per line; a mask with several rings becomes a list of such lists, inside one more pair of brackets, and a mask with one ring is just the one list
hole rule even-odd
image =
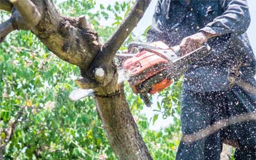
[[[159, 44], [157, 44], [155, 42], [154, 45], [156, 45], [157, 47], [159, 47], [161, 45], [163, 46], [162, 43], [163, 42], [159, 42]], [[164, 44], [163, 47], [166, 48], [166, 45]], [[161, 48], [163, 48], [163, 47], [161, 47]], [[168, 66], [168, 63], [170, 63], [170, 62], [168, 60], [166, 60], [166, 58], [164, 58], [163, 56], [161, 56], [157, 53], [150, 52], [150, 51], [140, 51], [134, 57], [126, 60], [123, 63], [123, 65], [124, 65], [125, 70], [127, 70], [129, 72], [129, 74], [131, 74], [131, 76], [136, 77], [138, 75], [143, 74], [143, 76], [138, 81], [132, 82], [131, 86], [132, 86], [132, 90], [134, 91], [134, 93], [136, 93], [136, 94], [139, 93], [138, 84], [143, 83], [148, 78], [150, 78], [154, 75], [157, 75], [161, 71], [165, 70], [166, 67]], [[161, 67], [156, 67], [156, 66], [161, 66]], [[154, 67], [156, 67], [156, 68], [154, 68]], [[161, 76], [161, 74], [159, 74], [159, 76]], [[163, 81], [160, 81], [160, 82], [154, 84], [150, 88], [148, 93], [154, 94], [154, 93], [160, 92], [161, 90], [163, 90], [164, 88], [166, 88], [167, 86], [169, 86], [172, 83], [173, 83], [172, 79], [167, 79], [167, 77], [166, 77], [165, 79], [163, 79]]]

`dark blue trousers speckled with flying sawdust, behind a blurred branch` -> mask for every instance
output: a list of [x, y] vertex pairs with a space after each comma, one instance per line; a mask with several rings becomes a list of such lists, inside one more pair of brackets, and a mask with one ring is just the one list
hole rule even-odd
[[[255, 112], [255, 104], [256, 96], [237, 86], [221, 92], [198, 93], [183, 90], [180, 115], [182, 134], [195, 134], [221, 119]], [[255, 120], [229, 125], [192, 143], [181, 141], [176, 159], [220, 159], [224, 139], [239, 143], [239, 149], [235, 152], [236, 160], [256, 159]]]

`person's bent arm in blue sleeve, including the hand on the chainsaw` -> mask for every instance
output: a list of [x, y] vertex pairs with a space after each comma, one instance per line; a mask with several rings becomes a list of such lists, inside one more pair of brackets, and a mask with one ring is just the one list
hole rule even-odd
[[188, 36], [180, 43], [184, 54], [194, 51], [209, 38], [228, 33], [241, 35], [250, 25], [250, 13], [246, 0], [222, 0], [225, 12], [212, 22], [200, 29], [199, 33]]

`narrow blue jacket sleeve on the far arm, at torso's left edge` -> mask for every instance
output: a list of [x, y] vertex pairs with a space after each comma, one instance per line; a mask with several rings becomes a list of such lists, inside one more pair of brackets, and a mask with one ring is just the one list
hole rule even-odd
[[147, 42], [156, 42], [161, 40], [161, 31], [159, 26], [161, 26], [161, 4], [163, 0], [158, 0], [156, 5], [156, 10], [152, 20], [152, 26], [147, 32]]

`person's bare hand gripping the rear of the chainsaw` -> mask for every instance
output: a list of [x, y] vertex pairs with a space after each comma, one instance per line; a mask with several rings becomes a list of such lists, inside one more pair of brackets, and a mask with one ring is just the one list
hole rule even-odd
[[199, 32], [195, 35], [187, 36], [180, 43], [180, 49], [182, 56], [188, 54], [189, 52], [195, 51], [199, 47], [201, 47], [209, 38], [212, 38], [214, 35], [210, 35], [209, 33]]

